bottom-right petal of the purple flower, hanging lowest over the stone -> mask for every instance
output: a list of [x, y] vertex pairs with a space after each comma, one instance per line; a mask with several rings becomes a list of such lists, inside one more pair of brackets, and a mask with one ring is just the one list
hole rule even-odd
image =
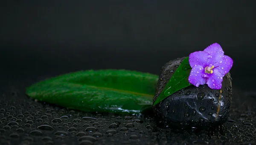
[[209, 75], [207, 79], [207, 85], [211, 89], [221, 89], [223, 77], [218, 69], [213, 70], [213, 74]]

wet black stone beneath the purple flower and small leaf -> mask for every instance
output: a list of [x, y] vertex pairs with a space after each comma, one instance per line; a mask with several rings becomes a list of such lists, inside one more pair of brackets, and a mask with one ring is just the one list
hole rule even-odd
[[[163, 66], [153, 102], [161, 94], [184, 58], [171, 60]], [[221, 125], [227, 120], [230, 112], [231, 81], [228, 73], [223, 77], [221, 90], [213, 90], [206, 84], [183, 88], [153, 106], [154, 112], [166, 123]]]

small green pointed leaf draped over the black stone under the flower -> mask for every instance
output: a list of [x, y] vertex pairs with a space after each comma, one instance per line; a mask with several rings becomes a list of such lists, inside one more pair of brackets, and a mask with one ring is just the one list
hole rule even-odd
[[154, 105], [157, 105], [159, 102], [164, 100], [166, 97], [172, 95], [176, 91], [192, 85], [189, 83], [189, 74], [191, 69], [192, 68], [189, 65], [189, 57], [186, 57], [177, 68], [175, 73], [172, 75], [172, 78], [166, 84], [166, 87], [163, 89], [157, 100], [154, 102]]

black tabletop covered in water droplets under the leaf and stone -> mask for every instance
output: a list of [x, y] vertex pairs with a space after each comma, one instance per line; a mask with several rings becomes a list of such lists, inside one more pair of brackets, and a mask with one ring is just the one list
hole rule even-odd
[[24, 88], [44, 78], [2, 78], [1, 145], [255, 144], [256, 101], [253, 93], [236, 87], [226, 123], [211, 130], [179, 130], [151, 115], [90, 114], [26, 97]]

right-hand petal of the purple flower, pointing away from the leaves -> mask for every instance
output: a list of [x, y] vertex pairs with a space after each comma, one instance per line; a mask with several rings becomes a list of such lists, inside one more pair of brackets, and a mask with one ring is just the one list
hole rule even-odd
[[224, 55], [223, 62], [220, 63], [218, 67], [218, 71], [222, 74], [222, 77], [224, 77], [225, 74], [227, 74], [230, 69], [233, 66], [233, 60], [227, 55]]

